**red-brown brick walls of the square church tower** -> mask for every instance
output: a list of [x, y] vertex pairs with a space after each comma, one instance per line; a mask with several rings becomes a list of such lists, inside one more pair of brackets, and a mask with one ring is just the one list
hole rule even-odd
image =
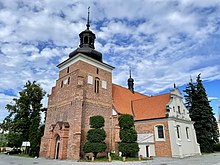
[[[98, 70], [97, 70], [98, 69]], [[68, 72], [69, 70], [69, 72]], [[93, 76], [93, 84], [88, 84], [88, 75]], [[100, 80], [99, 93], [94, 92], [94, 80]], [[107, 89], [101, 87], [101, 81], [107, 82]], [[48, 98], [44, 136], [41, 141], [40, 156], [54, 158], [55, 140], [60, 136], [59, 159], [79, 159], [82, 156], [82, 144], [89, 130], [89, 118], [102, 115], [105, 118], [106, 142], [111, 148], [112, 113], [112, 74], [103, 69], [78, 61], [59, 73], [56, 86]], [[55, 129], [57, 122], [69, 124], [68, 133]]]

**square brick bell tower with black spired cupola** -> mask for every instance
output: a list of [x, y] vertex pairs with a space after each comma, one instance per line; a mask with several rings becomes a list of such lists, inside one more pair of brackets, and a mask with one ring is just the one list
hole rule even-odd
[[[79, 34], [80, 44], [69, 58], [58, 64], [59, 77], [48, 97], [48, 110], [40, 156], [52, 159], [75, 159], [83, 156], [82, 146], [90, 129], [91, 116], [105, 119], [107, 150], [111, 150], [112, 70], [95, 50], [95, 34]], [[59, 139], [59, 147], [57, 147]], [[57, 149], [58, 148], [58, 149]]]

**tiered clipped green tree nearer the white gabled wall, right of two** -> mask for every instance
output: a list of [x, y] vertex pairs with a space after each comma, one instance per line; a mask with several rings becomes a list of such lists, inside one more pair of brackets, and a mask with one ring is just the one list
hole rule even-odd
[[122, 156], [134, 156], [138, 151], [137, 132], [134, 129], [134, 117], [129, 114], [120, 115], [120, 139], [118, 149]]

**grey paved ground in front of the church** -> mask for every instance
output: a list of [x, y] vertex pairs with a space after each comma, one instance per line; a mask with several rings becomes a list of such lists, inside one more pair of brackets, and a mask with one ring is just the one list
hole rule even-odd
[[154, 160], [141, 162], [119, 162], [113, 161], [111, 163], [90, 163], [90, 162], [76, 162], [70, 160], [48, 160], [43, 158], [23, 158], [18, 156], [9, 156], [0, 154], [0, 165], [220, 165], [220, 152], [213, 154], [206, 154], [202, 156], [189, 157], [184, 159], [173, 158], [154, 158]]

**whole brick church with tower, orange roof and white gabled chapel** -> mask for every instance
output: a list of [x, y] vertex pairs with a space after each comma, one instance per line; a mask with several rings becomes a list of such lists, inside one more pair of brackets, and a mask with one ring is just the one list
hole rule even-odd
[[131, 75], [128, 88], [113, 84], [114, 67], [104, 63], [102, 53], [95, 50], [96, 36], [90, 30], [89, 13], [86, 29], [79, 37], [79, 47], [57, 66], [59, 77], [48, 96], [41, 157], [82, 158], [89, 119], [94, 115], [105, 119], [105, 154], [118, 154], [120, 114], [134, 116], [138, 154], [142, 157], [183, 158], [201, 154], [193, 121], [175, 86], [168, 93], [147, 96], [134, 90]]

